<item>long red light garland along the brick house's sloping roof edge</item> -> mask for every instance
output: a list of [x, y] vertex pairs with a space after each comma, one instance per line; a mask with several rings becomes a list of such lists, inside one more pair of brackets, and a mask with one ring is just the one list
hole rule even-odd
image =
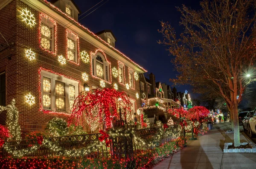
[[67, 18], [69, 18], [70, 20], [72, 20], [73, 22], [75, 22], [77, 25], [79, 25], [81, 28], [85, 29], [86, 31], [88, 31], [90, 34], [92, 34], [94, 37], [98, 38], [99, 40], [101, 40], [103, 43], [105, 43], [106, 45], [108, 45], [108, 47], [112, 48], [113, 50], [115, 50], [116, 52], [118, 52], [119, 54], [121, 54], [122, 56], [124, 56], [126, 59], [128, 59], [130, 62], [132, 62], [134, 65], [136, 65], [137, 67], [139, 67], [140, 69], [142, 69], [143, 71], [147, 72], [147, 70], [145, 70], [143, 67], [141, 67], [140, 65], [138, 65], [137, 63], [135, 63], [133, 60], [131, 60], [128, 56], [126, 56], [125, 54], [123, 54], [122, 52], [118, 51], [116, 48], [114, 48], [113, 46], [111, 46], [108, 42], [105, 42], [104, 39], [98, 37], [96, 34], [94, 34], [92, 31], [90, 31], [88, 28], [85, 28], [83, 25], [81, 25], [77, 20], [73, 19], [72, 17], [70, 17], [68, 14], [65, 14], [63, 11], [61, 11], [61, 9], [57, 8], [56, 6], [52, 5], [52, 3], [49, 3], [47, 0], [44, 0], [45, 3], [49, 4], [49, 6], [51, 6], [52, 8], [55, 8], [57, 11], [59, 11], [61, 14], [63, 14], [64, 16], [66, 16]]

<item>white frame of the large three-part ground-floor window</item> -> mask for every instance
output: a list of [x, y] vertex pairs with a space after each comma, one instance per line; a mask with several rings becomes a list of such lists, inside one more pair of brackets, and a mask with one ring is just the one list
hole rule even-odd
[[[51, 79], [51, 109], [44, 109], [43, 105], [43, 77]], [[55, 107], [55, 81], [63, 82], [65, 83], [65, 111], [59, 111], [56, 110]], [[78, 87], [79, 87], [79, 82], [68, 79], [64, 76], [57, 75], [55, 73], [48, 72], [46, 70], [41, 70], [41, 107], [43, 110], [50, 110], [50, 111], [58, 111], [58, 112], [66, 112], [70, 113], [70, 96], [69, 96], [69, 85], [75, 86], [75, 97], [78, 96]]]

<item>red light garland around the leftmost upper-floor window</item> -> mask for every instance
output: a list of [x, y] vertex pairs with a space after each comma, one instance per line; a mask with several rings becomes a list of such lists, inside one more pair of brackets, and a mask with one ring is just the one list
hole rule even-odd
[[[42, 36], [41, 36], [41, 22], [42, 22], [42, 17], [45, 17], [46, 19], [50, 20], [53, 24], [54, 24], [54, 28], [53, 28], [53, 31], [54, 31], [54, 39], [53, 39], [53, 45], [54, 45], [54, 51], [51, 51], [51, 50], [48, 50], [47, 48], [43, 48], [41, 46], [41, 40], [42, 40]], [[39, 48], [43, 49], [44, 51], [47, 51], [48, 53], [50, 54], [54, 54], [56, 55], [57, 54], [57, 24], [54, 20], [52, 20], [51, 18], [47, 17], [46, 15], [44, 14], [40, 14], [40, 17], [39, 17]]]

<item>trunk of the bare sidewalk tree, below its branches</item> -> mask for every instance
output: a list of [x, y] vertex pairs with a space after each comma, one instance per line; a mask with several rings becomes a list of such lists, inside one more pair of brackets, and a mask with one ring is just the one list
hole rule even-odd
[[239, 118], [238, 118], [238, 105], [233, 105], [231, 107], [230, 114], [233, 114], [233, 124], [234, 124], [234, 146], [240, 146], [240, 131], [239, 131]]

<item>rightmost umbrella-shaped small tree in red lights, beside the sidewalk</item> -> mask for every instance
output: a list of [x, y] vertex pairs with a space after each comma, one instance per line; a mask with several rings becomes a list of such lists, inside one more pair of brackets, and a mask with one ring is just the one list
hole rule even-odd
[[[195, 121], [198, 121], [201, 126], [202, 126], [202, 123], [204, 121], [207, 121], [207, 117], [209, 115], [209, 110], [203, 106], [194, 106], [192, 107], [191, 109], [189, 109], [187, 115], [186, 115], [186, 118], [190, 119], [193, 124], [192, 124], [192, 139], [191, 140], [194, 140], [194, 124], [195, 124]], [[196, 135], [197, 135], [197, 132], [196, 132]]]

